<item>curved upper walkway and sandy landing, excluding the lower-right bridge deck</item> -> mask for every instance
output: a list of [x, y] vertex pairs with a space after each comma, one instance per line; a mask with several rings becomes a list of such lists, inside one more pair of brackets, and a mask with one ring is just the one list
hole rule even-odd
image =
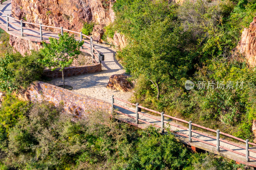
[[[5, 14], [8, 14], [12, 17], [12, 4], [11, 0], [3, 2], [2, 5], [0, 5], [0, 11], [4, 12]], [[6, 16], [0, 13], [0, 16], [6, 19]], [[28, 41], [35, 41], [35, 42], [41, 42], [40, 40], [40, 32], [24, 29], [24, 33], [30, 33], [30, 34], [37, 34], [38, 36], [32, 36], [32, 35], [26, 35], [21, 36], [21, 33], [17, 32], [21, 30], [20, 23], [16, 20], [13, 20], [12, 18], [9, 18], [9, 21], [13, 24], [9, 24], [9, 26], [15, 30], [9, 29], [7, 31], [6, 29], [6, 22], [0, 18], [0, 22], [3, 22], [0, 24], [0, 27], [4, 29], [7, 33], [10, 35], [13, 35], [15, 37], [18, 37], [20, 39], [28, 40]], [[47, 37], [58, 37], [56, 34], [52, 33], [44, 33], [44, 39], [48, 40]], [[84, 43], [87, 47], [90, 47], [90, 44]], [[102, 61], [102, 71], [99, 73], [93, 73], [93, 74], [87, 74], [87, 75], [81, 75], [76, 77], [68, 77], [65, 78], [66, 85], [73, 86], [73, 91], [79, 92], [91, 97], [94, 97], [96, 99], [101, 99], [105, 101], [111, 101], [111, 95], [114, 94], [116, 97], [121, 97], [125, 100], [129, 100], [132, 96], [131, 92], [120, 92], [116, 90], [110, 90], [107, 89], [106, 86], [108, 84], [109, 77], [113, 74], [122, 74], [125, 71], [123, 70], [123, 67], [121, 64], [119, 64], [115, 59], [116, 50], [114, 48], [111, 48], [104, 44], [94, 44], [95, 49], [105, 55], [105, 61]], [[87, 49], [88, 52], [90, 51]], [[96, 59], [97, 61], [97, 59]], [[62, 84], [61, 78], [53, 79], [50, 84], [53, 85], [60, 85]]]

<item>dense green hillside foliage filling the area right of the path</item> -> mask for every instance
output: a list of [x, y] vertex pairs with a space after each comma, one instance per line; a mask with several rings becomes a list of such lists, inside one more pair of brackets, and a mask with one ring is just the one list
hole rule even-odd
[[[252, 140], [256, 73], [235, 47], [256, 15], [255, 4], [117, 0], [111, 28], [128, 39], [117, 57], [137, 79], [135, 102]], [[205, 88], [188, 91], [186, 80], [205, 82]], [[216, 88], [222, 81], [225, 88]]]

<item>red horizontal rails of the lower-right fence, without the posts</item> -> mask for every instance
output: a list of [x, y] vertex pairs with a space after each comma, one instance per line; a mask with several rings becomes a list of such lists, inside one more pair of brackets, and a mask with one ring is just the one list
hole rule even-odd
[[[119, 101], [122, 101], [122, 102], [127, 103], [127, 104], [130, 104], [130, 105], [132, 105], [132, 106], [136, 106], [135, 103], [131, 103], [131, 102], [129, 102], [129, 101], [126, 101], [126, 100], [123, 100], [123, 99], [120, 99], [120, 98], [117, 98], [117, 97], [114, 97], [114, 96], [112, 96], [112, 98], [113, 98], [113, 101], [112, 101], [112, 102], [113, 102], [113, 103], [112, 103], [113, 106], [118, 106], [118, 107], [123, 108], [123, 109], [125, 109], [125, 110], [128, 110], [128, 111], [131, 111], [131, 112], [133, 112], [133, 113], [136, 113], [136, 111], [134, 111], [134, 110], [132, 110], [132, 109], [129, 109], [129, 108], [124, 107], [124, 106], [122, 106], [122, 105], [116, 104], [116, 103], [114, 102], [114, 99], [119, 100]], [[112, 107], [113, 107], [113, 106], [112, 106]], [[153, 112], [153, 113], [156, 113], [156, 114], [161, 115], [160, 112], [158, 112], [158, 111], [156, 111], [156, 110], [149, 109], [149, 108], [147, 108], [147, 107], [143, 107], [143, 106], [141, 106], [141, 105], [138, 105], [138, 108], [142, 108], [142, 109], [144, 109], [144, 110], [147, 110], [147, 111], [150, 111], [150, 112]], [[113, 108], [113, 110], [114, 110], [114, 108]], [[116, 111], [116, 110], [114, 110], [114, 111], [115, 111], [116, 113], [119, 113], [119, 114], [122, 114], [122, 115], [125, 115], [125, 116], [128, 116], [128, 117], [131, 117], [132, 119], [136, 119], [136, 117], [134, 117], [134, 116], [131, 116], [131, 115], [128, 115], [128, 114], [124, 114], [124, 113], [122, 113], [122, 112], [120, 112], [120, 111]], [[138, 115], [143, 115], [143, 116], [146, 116], [146, 117], [148, 117], [148, 118], [154, 119], [154, 120], [159, 121], [159, 122], [162, 121], [162, 120], [159, 119], [159, 118], [156, 118], [156, 117], [151, 116], [151, 115], [147, 115], [147, 114], [142, 113], [142, 112], [139, 112], [139, 111], [138, 111], [137, 113], [138, 113]], [[176, 120], [176, 121], [180, 121], [180, 122], [183, 122], [183, 123], [189, 123], [188, 121], [183, 120], [183, 119], [179, 119], [179, 118], [176, 118], [176, 117], [173, 117], [173, 116], [170, 116], [170, 115], [165, 115], [165, 114], [163, 114], [163, 115], [166, 116], [166, 117], [169, 117], [169, 118], [171, 118], [171, 119], [173, 119], [173, 120]], [[159, 125], [156, 125], [156, 124], [153, 124], [153, 123], [150, 123], [150, 122], [146, 122], [146, 121], [144, 121], [144, 120], [141, 121], [141, 119], [138, 119], [138, 121], [144, 122], [144, 123], [147, 123], [147, 124], [151, 124], [152, 126], [161, 128], [161, 126], [159, 126]], [[189, 130], [189, 129], [186, 128], [186, 127], [183, 127], [183, 126], [180, 126], [180, 125], [176, 125], [176, 124], [171, 123], [171, 122], [168, 122], [168, 121], [163, 121], [163, 122], [166, 123], [166, 124], [172, 125], [172, 126], [174, 126], [174, 127], [180, 128], [180, 129]], [[200, 125], [195, 124], [195, 123], [191, 123], [191, 124], [192, 124], [193, 126], [195, 126], [195, 127], [199, 127], [199, 128], [205, 129], [205, 130], [209, 130], [209, 131], [211, 131], [211, 132], [215, 132], [215, 133], [217, 132], [217, 131], [214, 130], [214, 129], [206, 128], [206, 127], [204, 127], [204, 126], [200, 126]], [[166, 128], [164, 128], [164, 129], [166, 129]], [[189, 136], [186, 135], [186, 134], [183, 134], [183, 133], [180, 133], [180, 132], [171, 130], [171, 129], [167, 129], [167, 130], [170, 130], [171, 132], [173, 132], [173, 133], [175, 133], [175, 134], [178, 134], [178, 135], [180, 135], [180, 136], [183, 136], [183, 137], [189, 137]], [[196, 134], [203, 135], [203, 136], [205, 136], [205, 137], [209, 137], [209, 138], [212, 138], [212, 139], [217, 140], [216, 137], [214, 137], [214, 136], [212, 136], [212, 135], [208, 135], [208, 134], [202, 133], [202, 132], [199, 132], [199, 131], [197, 131], [197, 130], [191, 129], [191, 132], [194, 132], [194, 133], [196, 133]], [[245, 140], [243, 140], [243, 139], [241, 139], [241, 138], [235, 137], [235, 136], [233, 136], [233, 135], [229, 135], [229, 134], [224, 133], [224, 132], [220, 132], [220, 134], [225, 135], [225, 136], [230, 137], [230, 138], [233, 138], [233, 139], [236, 139], [236, 140], [241, 141], [241, 142], [245, 142]], [[194, 139], [194, 140], [196, 140], [196, 141], [198, 141], [198, 142], [202, 142], [202, 143], [204, 143], [204, 144], [209, 144], [209, 145], [211, 145], [211, 146], [215, 146], [215, 147], [216, 147], [216, 144], [213, 144], [213, 143], [210, 143], [210, 142], [207, 142], [207, 141], [204, 141], [204, 140], [200, 140], [200, 139], [195, 138], [195, 137], [191, 137], [191, 139]], [[221, 139], [221, 138], [220, 138], [219, 140], [220, 140], [221, 142], [224, 142], [224, 143], [227, 143], [227, 144], [230, 144], [230, 145], [233, 145], [233, 146], [236, 146], [236, 147], [239, 147], [239, 148], [242, 148], [242, 149], [245, 149], [245, 150], [246, 150], [246, 147], [241, 146], [240, 144], [235, 144], [235, 143], [233, 143], [233, 142], [230, 142], [230, 141], [228, 141], [228, 140]], [[253, 145], [253, 146], [256, 146], [256, 144], [254, 144], [254, 143], [251, 143], [251, 142], [248, 142], [248, 143], [251, 144], [251, 145]], [[244, 154], [244, 153], [241, 153], [241, 152], [238, 152], [238, 151], [234, 151], [234, 150], [229, 149], [229, 148], [226, 148], [226, 147], [224, 147], [224, 146], [219, 146], [219, 147], [222, 148], [222, 149], [224, 149], [224, 150], [226, 150], [226, 151], [233, 152], [233, 153], [236, 153], [236, 154], [239, 154], [239, 155], [242, 155], [242, 156], [245, 156], [245, 157], [246, 157], [246, 154]], [[249, 147], [248, 147], [248, 148], [249, 148]], [[248, 149], [248, 151], [249, 151], [249, 152], [254, 152], [254, 153], [256, 153], [256, 151], [255, 151], [255, 150], [252, 150], [252, 149]], [[248, 153], [249, 153], [249, 152], [248, 152]], [[251, 157], [251, 156], [248, 156], [248, 157], [249, 157], [249, 159], [256, 160], [256, 158], [254, 158], [254, 157]]]

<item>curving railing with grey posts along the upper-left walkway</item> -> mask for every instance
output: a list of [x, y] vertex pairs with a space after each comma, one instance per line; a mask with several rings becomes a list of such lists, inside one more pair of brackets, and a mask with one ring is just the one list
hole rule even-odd
[[[0, 2], [2, 2], [3, 0], [0, 0]], [[20, 33], [20, 36], [23, 37], [24, 34], [25, 35], [30, 35], [30, 36], [34, 36], [34, 37], [40, 37], [40, 42], [41, 41], [45, 41], [46, 43], [50, 43], [49, 38], [50, 37], [54, 37], [54, 38], [59, 38], [59, 33], [61, 35], [63, 35], [63, 32], [66, 31], [68, 33], [73, 33], [75, 34], [75, 39], [77, 41], [84, 41], [83, 46], [79, 49], [82, 52], [88, 53], [92, 56], [92, 63], [101, 63], [101, 59], [104, 60], [104, 56], [103, 54], [101, 54], [99, 51], [97, 51], [93, 45], [93, 39], [92, 37], [89, 37], [85, 34], [83, 34], [82, 32], [76, 32], [76, 31], [72, 31], [72, 30], [68, 30], [68, 29], [64, 29], [63, 27], [54, 27], [54, 26], [46, 26], [46, 25], [42, 25], [42, 24], [35, 24], [35, 23], [30, 23], [30, 22], [26, 22], [23, 20], [19, 20], [16, 18], [13, 18], [7, 14], [5, 14], [4, 12], [0, 11], [1, 14], [3, 14], [5, 17], [0, 16], [0, 18], [2, 20], [0, 20], [1, 24], [6, 24], [6, 27], [4, 28], [5, 31], [10, 31], [10, 30], [14, 30], [18, 33]], [[17, 21], [18, 23], [13, 23], [11, 21], [9, 21], [10, 19]], [[29, 25], [31, 27], [26, 26]], [[19, 27], [20, 29], [16, 29], [14, 26]], [[48, 31], [46, 30], [46, 28], [53, 28], [54, 30], [59, 30], [57, 32], [52, 32], [52, 31]], [[25, 32], [24, 30], [32, 30], [34, 31], [33, 33], [28, 33]], [[45, 34], [46, 33], [46, 34]], [[56, 34], [56, 36], [53, 35], [49, 35], [50, 34]], [[89, 39], [86, 40], [86, 39]], [[35, 41], [36, 39], [31, 39], [31, 41]], [[37, 41], [37, 40], [36, 40]], [[86, 46], [86, 45], [89, 45]], [[86, 49], [90, 50], [87, 51]], [[96, 53], [96, 54], [95, 54]]]

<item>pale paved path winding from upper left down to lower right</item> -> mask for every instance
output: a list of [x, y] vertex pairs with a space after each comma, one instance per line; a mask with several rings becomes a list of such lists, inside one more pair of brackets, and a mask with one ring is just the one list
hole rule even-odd
[[[0, 5], [0, 11], [10, 15], [11, 14], [11, 0], [8, 0], [8, 1], [4, 2], [3, 5]], [[0, 16], [6, 18], [3, 14], [0, 14]], [[0, 21], [3, 22], [3, 19], [0, 19]], [[18, 23], [17, 21], [15, 21], [13, 19], [10, 19], [10, 21], [12, 23], [17, 24], [17, 25], [20, 24], [20, 23]], [[6, 30], [5, 29], [6, 24], [0, 24], [0, 27], [2, 29]], [[20, 28], [18, 26], [12, 26], [12, 28], [20, 30]], [[28, 32], [28, 33], [39, 34], [36, 31], [29, 31], [29, 30], [25, 30], [25, 31]], [[37, 37], [37, 36], [21, 37], [20, 33], [18, 33], [17, 31], [14, 31], [14, 30], [7, 31], [7, 33], [9, 33], [13, 36], [16, 36], [18, 38], [25, 39], [25, 40], [40, 42], [40, 38]], [[45, 33], [44, 35], [55, 36], [54, 34], [51, 34], [51, 33]], [[88, 96], [91, 96], [91, 97], [94, 97], [94, 98], [97, 98], [97, 99], [101, 99], [101, 100], [104, 100], [104, 101], [110, 102], [112, 94], [114, 94], [115, 97], [118, 97], [118, 98], [121, 98], [121, 99], [124, 99], [124, 100], [129, 100], [132, 97], [131, 92], [120, 92], [120, 91], [110, 90], [110, 89], [106, 88], [109, 77], [111, 75], [124, 73], [124, 70], [123, 70], [122, 66], [115, 60], [116, 51], [113, 48], [110, 48], [107, 45], [103, 45], [103, 44], [95, 44], [95, 48], [99, 52], [102, 52], [102, 53], [105, 54], [105, 61], [102, 62], [102, 71], [99, 72], [99, 73], [93, 73], [93, 74], [87, 74], [87, 75], [65, 78], [66, 84], [73, 86], [73, 91], [75, 91], [75, 92], [79, 92], [79, 93], [82, 93], [82, 94], [85, 94], [85, 95], [88, 95]], [[61, 78], [57, 78], [57, 79], [52, 80], [50, 83], [54, 84], [54, 85], [60, 85], [62, 83], [62, 80], [61, 80]], [[131, 108], [131, 109], [135, 110], [134, 107], [130, 106], [129, 104], [125, 104], [125, 103], [123, 103], [121, 101], [117, 101], [117, 100], [115, 100], [115, 102], [117, 104], [121, 104], [125, 107], [128, 107], [128, 108]], [[121, 112], [126, 113], [126, 114], [135, 116], [135, 114], [130, 112], [130, 111], [127, 111], [127, 110], [124, 110], [124, 109], [121, 109], [121, 108], [118, 108], [118, 107], [117, 107], [117, 109]], [[117, 116], [118, 116], [119, 119], [123, 119], [124, 121], [130, 121], [130, 122], [135, 123], [135, 121], [133, 119], [131, 119], [127, 116], [124, 116], [124, 115], [117, 115]], [[155, 116], [155, 117], [160, 118], [160, 116]], [[145, 120], [147, 122], [156, 123], [156, 124], [160, 125], [159, 121], [148, 118], [146, 116], [141, 116], [140, 115], [140, 119]], [[171, 120], [167, 120], [167, 121], [171, 121]], [[174, 121], [174, 123], [179, 124], [179, 122], [175, 122], [175, 121]], [[140, 122], [139, 126], [143, 128], [143, 127], [147, 127], [148, 124]], [[183, 133], [183, 134], [188, 134], [188, 130], [176, 128], [175, 126], [170, 126], [170, 129], [178, 130], [180, 133]], [[207, 132], [204, 132], [204, 133], [207, 133]], [[207, 133], [207, 134], [211, 134], [211, 135], [215, 136], [212, 133]], [[212, 138], [209, 138], [207, 136], [199, 135], [199, 134], [196, 134], [196, 133], [192, 133], [192, 135], [193, 135], [193, 137], [196, 137], [198, 139], [216, 144], [216, 140], [214, 140]], [[192, 140], [192, 143], [189, 143], [188, 138], [186, 138], [186, 137], [182, 137], [182, 136], [179, 136], [179, 135], [176, 135], [176, 137], [183, 143], [186, 143], [186, 144], [204, 149], [204, 150], [209, 151], [209, 152], [220, 154], [220, 155], [225, 156], [229, 159], [233, 159], [233, 160], [239, 161], [241, 163], [256, 167], [256, 161], [250, 160], [249, 163], [245, 162], [245, 157], [244, 156], [238, 155], [238, 154], [233, 153], [233, 152], [228, 152], [228, 151], [225, 151], [223, 149], [220, 149], [220, 152], [216, 152], [216, 148], [213, 147], [213, 146], [210, 146], [208, 144], [197, 142], [195, 140]], [[242, 146], [245, 146], [244, 143], [238, 143], [237, 142], [236, 144], [240, 144]], [[232, 149], [234, 151], [239, 151], [239, 152], [242, 152], [242, 153], [245, 154], [244, 149], [238, 148], [236, 146], [226, 144], [226, 143], [223, 143], [223, 142], [220, 142], [220, 145], [224, 146], [226, 148]], [[255, 150], [255, 148], [256, 147], [250, 146], [250, 149]], [[256, 153], [250, 152], [250, 156], [256, 158]]]

